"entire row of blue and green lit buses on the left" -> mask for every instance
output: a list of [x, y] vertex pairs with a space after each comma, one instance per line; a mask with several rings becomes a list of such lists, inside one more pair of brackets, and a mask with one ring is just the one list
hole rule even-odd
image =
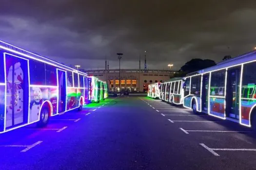
[[0, 41], [0, 133], [107, 97], [106, 82]]

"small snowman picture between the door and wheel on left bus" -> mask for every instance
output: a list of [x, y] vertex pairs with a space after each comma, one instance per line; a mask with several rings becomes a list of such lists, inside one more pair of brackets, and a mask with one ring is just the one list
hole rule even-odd
[[39, 109], [42, 104], [42, 91], [39, 87], [32, 87], [30, 92], [31, 102], [30, 102], [30, 122], [39, 119]]

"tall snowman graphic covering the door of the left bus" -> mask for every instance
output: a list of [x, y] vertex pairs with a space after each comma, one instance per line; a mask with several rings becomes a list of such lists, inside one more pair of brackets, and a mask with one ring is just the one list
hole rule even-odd
[[11, 65], [6, 74], [6, 126], [11, 126], [13, 113], [15, 124], [23, 122], [23, 70], [20, 62]]

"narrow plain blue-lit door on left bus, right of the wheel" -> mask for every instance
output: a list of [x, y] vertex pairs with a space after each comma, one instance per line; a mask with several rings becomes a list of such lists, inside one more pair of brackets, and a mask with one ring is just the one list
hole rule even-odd
[[57, 69], [59, 85], [58, 113], [64, 112], [66, 108], [66, 72]]

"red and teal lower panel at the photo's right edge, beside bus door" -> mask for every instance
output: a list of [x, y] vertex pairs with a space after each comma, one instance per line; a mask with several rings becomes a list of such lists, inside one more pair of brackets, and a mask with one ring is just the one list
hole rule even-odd
[[242, 124], [246, 124], [246, 125], [250, 125], [250, 111], [252, 109], [252, 107], [256, 104], [256, 100], [255, 99], [247, 99], [244, 100], [242, 99], [241, 101], [241, 123]]

